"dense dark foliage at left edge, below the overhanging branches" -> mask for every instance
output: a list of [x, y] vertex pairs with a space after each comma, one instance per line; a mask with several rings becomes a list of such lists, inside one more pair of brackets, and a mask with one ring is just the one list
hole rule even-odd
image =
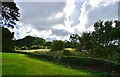
[[2, 29], [2, 51], [14, 51], [14, 42], [13, 36], [14, 33], [11, 33], [7, 28], [0, 27]]

